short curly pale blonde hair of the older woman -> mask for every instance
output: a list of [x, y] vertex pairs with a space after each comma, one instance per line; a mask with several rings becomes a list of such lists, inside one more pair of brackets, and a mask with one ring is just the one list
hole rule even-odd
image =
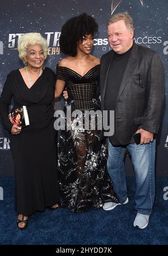
[[43, 38], [43, 36], [41, 36], [40, 33], [36, 33], [36, 32], [26, 33], [22, 35], [21, 38], [18, 39], [18, 46], [17, 46], [18, 57], [21, 60], [23, 60], [24, 63], [25, 63], [27, 48], [29, 47], [29, 45], [35, 45], [35, 44], [41, 45], [41, 47], [43, 48], [45, 59], [46, 59], [48, 55], [48, 44], [46, 42], [46, 39]]

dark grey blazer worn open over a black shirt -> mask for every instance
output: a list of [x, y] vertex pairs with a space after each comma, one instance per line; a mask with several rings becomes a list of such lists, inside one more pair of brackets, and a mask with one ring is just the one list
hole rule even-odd
[[[102, 55], [100, 63], [101, 109], [114, 52]], [[122, 145], [132, 142], [139, 127], [157, 133], [164, 100], [164, 69], [160, 54], [133, 43], [116, 99], [116, 135]]]

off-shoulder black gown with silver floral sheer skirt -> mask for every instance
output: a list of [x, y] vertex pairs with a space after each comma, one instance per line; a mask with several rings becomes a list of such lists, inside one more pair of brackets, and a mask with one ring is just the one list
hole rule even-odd
[[[100, 141], [98, 119], [95, 119], [95, 129], [84, 129], [85, 125], [81, 126], [83, 129], [74, 129], [81, 119], [71, 117], [72, 128], [67, 130], [69, 109], [71, 112], [81, 110], [83, 124], [86, 110], [100, 110], [99, 67], [91, 68], [82, 77], [70, 68], [57, 66], [57, 79], [66, 81], [68, 92], [64, 108], [66, 129], [61, 131], [58, 143], [59, 203], [72, 212], [100, 208], [106, 201], [118, 202], [106, 169], [107, 145]], [[88, 120], [90, 125], [91, 118]]]

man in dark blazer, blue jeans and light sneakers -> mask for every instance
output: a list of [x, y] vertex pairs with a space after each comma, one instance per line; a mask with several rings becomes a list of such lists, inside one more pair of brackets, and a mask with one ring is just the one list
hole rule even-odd
[[[132, 157], [136, 176], [134, 226], [144, 229], [155, 200], [155, 134], [164, 99], [164, 71], [154, 50], [133, 42], [133, 21], [117, 13], [108, 22], [111, 51], [100, 64], [102, 110], [114, 110], [114, 134], [109, 137], [108, 171], [119, 203], [106, 202], [112, 210], [128, 202], [124, 153]], [[108, 123], [110, 116], [108, 116]], [[139, 133], [139, 134], [138, 134]], [[139, 138], [139, 144], [137, 139]]]

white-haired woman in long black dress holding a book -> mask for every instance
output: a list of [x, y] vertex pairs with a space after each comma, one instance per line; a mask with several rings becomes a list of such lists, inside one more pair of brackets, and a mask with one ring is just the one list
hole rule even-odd
[[[15, 208], [17, 225], [25, 229], [28, 216], [46, 207], [58, 207], [57, 145], [54, 129], [55, 74], [43, 68], [48, 53], [46, 40], [39, 33], [27, 33], [18, 40], [19, 57], [24, 68], [12, 71], [4, 84], [0, 110], [4, 127], [10, 132], [15, 164]], [[8, 108], [27, 106], [30, 125], [10, 123]]]

